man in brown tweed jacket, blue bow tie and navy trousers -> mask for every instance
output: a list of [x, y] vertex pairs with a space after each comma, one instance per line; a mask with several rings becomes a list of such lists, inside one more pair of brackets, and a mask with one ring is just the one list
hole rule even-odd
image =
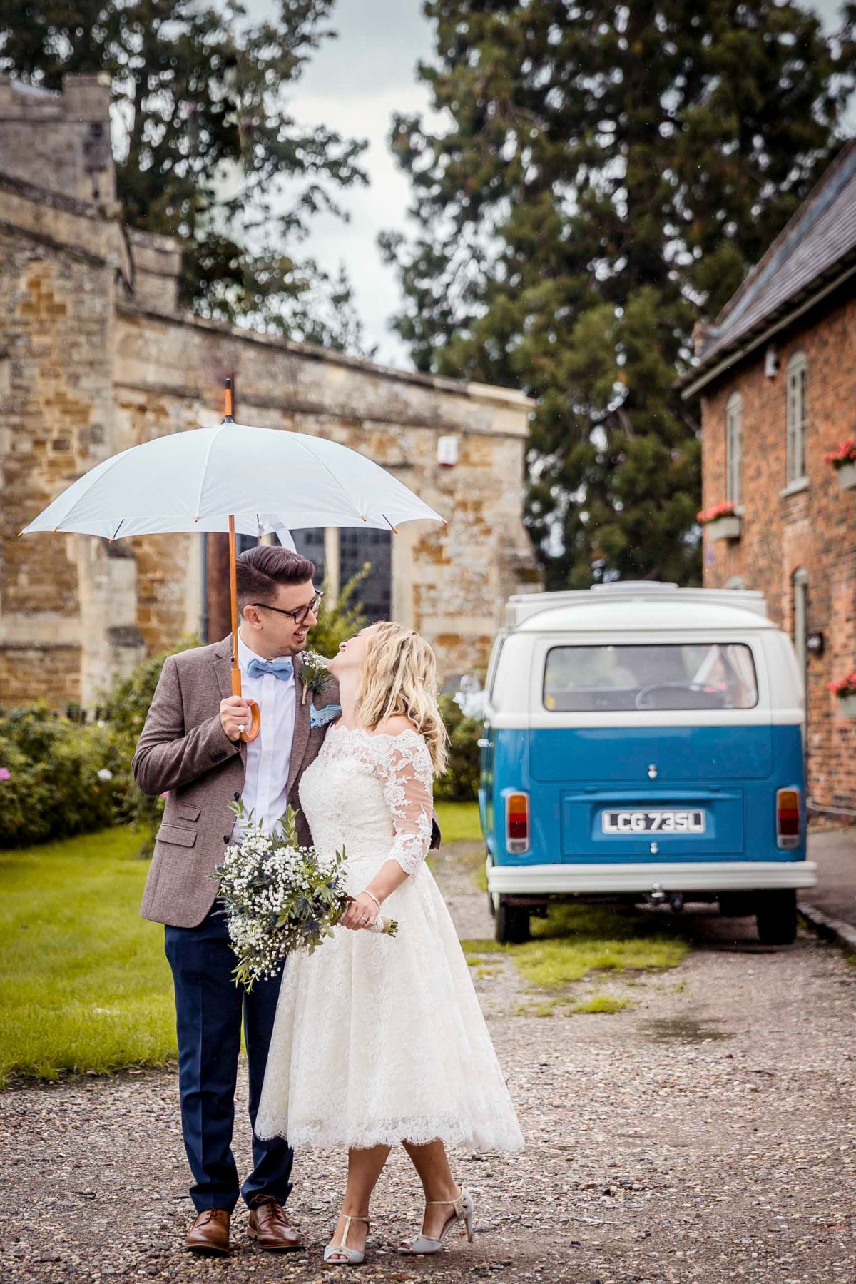
[[[253, 1171], [239, 1190], [231, 1150], [241, 1018], [249, 1062], [249, 1116], [255, 1122], [280, 978], [250, 994], [235, 986], [235, 955], [210, 877], [241, 822], [228, 809], [239, 799], [271, 829], [323, 741], [311, 725], [316, 710], [338, 701], [330, 677], [320, 695], [302, 702], [300, 652], [317, 623], [314, 565], [286, 548], [258, 546], [237, 559], [241, 615], [239, 664], [243, 696], [231, 695], [231, 637], [167, 659], [133, 755], [133, 778], [145, 794], [167, 794], [163, 823], [145, 886], [144, 918], [166, 924], [166, 953], [176, 990], [181, 1126], [194, 1175], [196, 1208], [185, 1244], [198, 1253], [228, 1252], [228, 1222], [239, 1194], [250, 1208], [249, 1233], [273, 1251], [304, 1248], [285, 1213], [293, 1150], [284, 1138], [253, 1134]], [[249, 725], [255, 700], [262, 731]], [[329, 709], [327, 720], [338, 709]], [[313, 722], [320, 722], [313, 715]], [[298, 815], [300, 842], [312, 837]]]

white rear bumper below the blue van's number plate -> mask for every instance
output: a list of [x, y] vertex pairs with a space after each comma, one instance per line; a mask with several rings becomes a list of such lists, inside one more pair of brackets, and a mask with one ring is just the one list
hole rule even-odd
[[756, 891], [766, 887], [814, 887], [814, 860], [710, 860], [705, 864], [494, 865], [488, 862], [488, 891], [538, 895], [585, 891]]

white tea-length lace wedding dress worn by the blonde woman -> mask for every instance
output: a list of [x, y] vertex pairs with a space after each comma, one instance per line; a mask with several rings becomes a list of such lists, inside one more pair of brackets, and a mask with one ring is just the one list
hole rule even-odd
[[431, 761], [413, 731], [331, 727], [300, 782], [320, 851], [345, 847], [348, 890], [384, 862], [395, 937], [336, 927], [285, 967], [255, 1131], [300, 1147], [440, 1138], [518, 1150], [522, 1136], [452, 918], [425, 864]]

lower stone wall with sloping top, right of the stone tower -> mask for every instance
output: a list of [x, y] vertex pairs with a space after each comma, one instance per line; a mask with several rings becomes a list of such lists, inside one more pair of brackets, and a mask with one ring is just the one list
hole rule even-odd
[[[520, 394], [388, 370], [370, 362], [198, 320], [118, 309], [116, 448], [216, 424], [221, 380], [235, 371], [239, 421], [322, 434], [389, 469], [448, 525], [403, 525], [393, 541], [393, 614], [436, 646], [444, 674], [486, 665], [506, 598], [533, 580], [521, 524], [527, 402]], [[438, 464], [457, 435], [458, 462]], [[191, 537], [193, 539], [193, 537]], [[140, 628], [150, 647], [177, 636], [201, 593], [186, 542], [139, 552]], [[172, 564], [157, 592], [148, 571]]]

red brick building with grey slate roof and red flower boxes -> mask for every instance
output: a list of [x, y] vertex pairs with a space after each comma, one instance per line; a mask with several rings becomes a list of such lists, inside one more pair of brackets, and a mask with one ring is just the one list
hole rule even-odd
[[807, 692], [809, 795], [856, 810], [856, 720], [826, 683], [856, 669], [856, 487], [824, 456], [856, 430], [856, 143], [848, 144], [712, 326], [701, 393], [705, 583], [760, 589]]

